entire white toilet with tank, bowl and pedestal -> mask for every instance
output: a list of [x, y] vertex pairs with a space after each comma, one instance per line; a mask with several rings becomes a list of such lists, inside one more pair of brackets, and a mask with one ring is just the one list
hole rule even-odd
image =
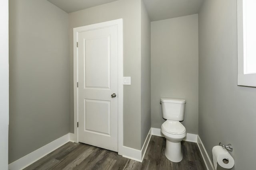
[[181, 141], [186, 137], [186, 128], [180, 123], [184, 119], [186, 100], [161, 98], [162, 116], [167, 119], [161, 126], [166, 138], [165, 156], [172, 162], [183, 158]]

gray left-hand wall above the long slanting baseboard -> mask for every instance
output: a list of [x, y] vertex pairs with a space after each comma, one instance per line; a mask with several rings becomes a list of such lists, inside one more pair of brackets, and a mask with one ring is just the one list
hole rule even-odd
[[9, 163], [69, 132], [68, 14], [10, 0]]

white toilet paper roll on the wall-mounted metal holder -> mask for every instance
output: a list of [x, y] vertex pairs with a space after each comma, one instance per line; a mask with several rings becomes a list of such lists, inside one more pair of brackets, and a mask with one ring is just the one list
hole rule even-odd
[[226, 169], [233, 168], [235, 164], [234, 158], [226, 149], [222, 148], [221, 146], [215, 146], [212, 148], [212, 158], [215, 170], [217, 169], [217, 163], [222, 168]]

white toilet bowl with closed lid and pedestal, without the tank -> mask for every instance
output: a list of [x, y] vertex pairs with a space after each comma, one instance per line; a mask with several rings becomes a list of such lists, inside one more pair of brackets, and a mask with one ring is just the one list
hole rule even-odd
[[179, 121], [166, 120], [161, 126], [166, 138], [165, 156], [172, 162], [180, 162], [183, 158], [181, 141], [186, 137], [186, 129]]

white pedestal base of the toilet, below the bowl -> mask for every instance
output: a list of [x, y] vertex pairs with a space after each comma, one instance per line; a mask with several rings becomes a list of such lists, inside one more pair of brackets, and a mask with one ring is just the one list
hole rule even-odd
[[172, 162], [180, 162], [183, 158], [181, 151], [181, 143], [173, 143], [166, 140], [165, 156]]

